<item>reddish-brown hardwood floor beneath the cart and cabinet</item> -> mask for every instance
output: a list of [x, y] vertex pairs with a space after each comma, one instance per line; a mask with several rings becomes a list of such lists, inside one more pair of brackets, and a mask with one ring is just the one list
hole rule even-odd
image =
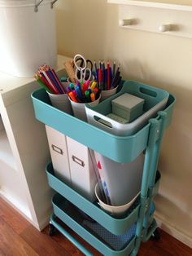
[[[71, 232], [68, 229], [68, 232]], [[71, 232], [73, 233], [73, 232]], [[191, 256], [192, 249], [181, 244], [166, 232], [160, 231], [159, 241], [147, 241], [142, 244], [138, 256]], [[76, 236], [77, 237], [77, 236]], [[90, 252], [98, 252], [81, 240]], [[59, 232], [55, 236], [48, 235], [48, 227], [43, 232], [38, 232], [20, 214], [12, 209], [0, 197], [0, 255], [1, 256], [83, 256]]]

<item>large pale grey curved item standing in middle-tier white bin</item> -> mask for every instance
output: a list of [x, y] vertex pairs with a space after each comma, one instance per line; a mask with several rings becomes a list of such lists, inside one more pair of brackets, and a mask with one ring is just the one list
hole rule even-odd
[[126, 205], [132, 201], [142, 186], [144, 154], [141, 153], [129, 163], [118, 163], [94, 152], [98, 171], [107, 187], [111, 205]]

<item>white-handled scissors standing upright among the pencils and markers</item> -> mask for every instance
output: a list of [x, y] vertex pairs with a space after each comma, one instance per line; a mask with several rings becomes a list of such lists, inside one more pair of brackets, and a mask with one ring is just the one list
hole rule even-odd
[[[84, 56], [79, 54], [75, 55], [73, 62], [76, 67], [76, 79], [82, 82], [90, 80], [93, 63], [90, 60], [85, 60]], [[88, 68], [88, 64], [90, 64], [90, 68]]]

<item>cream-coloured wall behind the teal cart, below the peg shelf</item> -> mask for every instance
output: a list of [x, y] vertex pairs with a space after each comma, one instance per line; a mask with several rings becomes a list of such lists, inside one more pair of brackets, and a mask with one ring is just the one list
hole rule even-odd
[[192, 41], [118, 27], [118, 7], [107, 0], [57, 3], [59, 54], [119, 61], [126, 79], [158, 86], [177, 97], [161, 147], [162, 180], [156, 216], [162, 227], [192, 246]]

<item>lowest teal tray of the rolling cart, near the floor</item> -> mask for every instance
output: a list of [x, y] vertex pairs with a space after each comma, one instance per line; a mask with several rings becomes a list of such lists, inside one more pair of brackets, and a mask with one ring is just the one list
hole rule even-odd
[[[116, 236], [107, 231], [100, 224], [91, 218], [85, 218], [75, 205], [72, 205], [67, 199], [59, 194], [53, 198], [54, 215], [58, 217], [68, 227], [72, 228], [89, 245], [92, 245], [103, 255], [109, 256], [127, 256], [131, 253], [135, 241], [136, 225], [134, 224], [124, 235]], [[63, 227], [57, 223], [54, 215], [50, 218], [50, 223], [55, 226], [59, 232], [66, 236], [78, 249], [85, 255], [91, 255], [78, 241], [66, 232]]]

